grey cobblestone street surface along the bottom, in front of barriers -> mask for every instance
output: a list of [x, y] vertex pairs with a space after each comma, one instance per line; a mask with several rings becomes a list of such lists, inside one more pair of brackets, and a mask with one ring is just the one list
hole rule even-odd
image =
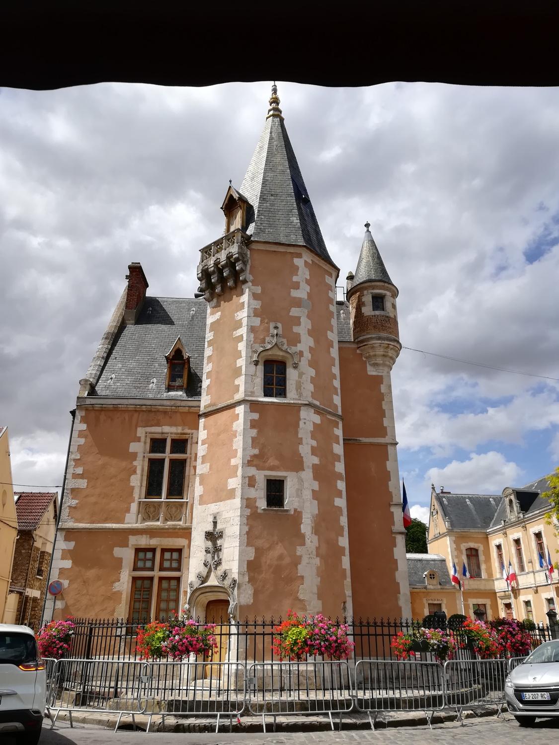
[[[42, 732], [40, 745], [142, 745], [146, 739], [151, 745], [335, 745], [338, 743], [356, 745], [472, 745], [474, 741], [491, 745], [549, 745], [559, 741], [559, 717], [555, 720], [537, 720], [534, 728], [519, 727], [510, 716], [506, 721], [496, 717], [467, 720], [464, 726], [458, 723], [438, 724], [432, 730], [426, 726], [397, 727], [342, 732], [297, 732], [297, 733], [219, 733], [171, 734], [154, 732], [110, 732], [91, 725], [76, 725], [70, 729], [66, 724], [52, 731]], [[4, 744], [3, 744], [4, 745]], [[7, 741], [5, 745], [11, 745]]]

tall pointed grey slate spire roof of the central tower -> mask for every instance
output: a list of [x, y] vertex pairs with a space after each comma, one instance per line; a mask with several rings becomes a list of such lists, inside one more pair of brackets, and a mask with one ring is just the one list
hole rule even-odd
[[335, 266], [281, 116], [266, 119], [240, 191], [253, 240], [306, 246]]

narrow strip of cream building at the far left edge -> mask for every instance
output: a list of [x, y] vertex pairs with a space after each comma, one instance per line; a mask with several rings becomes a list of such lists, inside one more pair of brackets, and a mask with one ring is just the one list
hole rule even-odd
[[[7, 427], [0, 427], [0, 621], [10, 607], [6, 607], [10, 592], [13, 552], [16, 548], [17, 517], [13, 498], [10, 442]], [[11, 601], [10, 601], [11, 602]]]

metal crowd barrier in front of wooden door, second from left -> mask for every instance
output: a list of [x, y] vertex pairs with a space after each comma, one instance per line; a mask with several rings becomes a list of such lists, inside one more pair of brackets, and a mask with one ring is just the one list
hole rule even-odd
[[246, 671], [242, 662], [151, 662], [146, 687], [149, 701], [148, 729], [152, 717], [221, 717], [238, 718], [246, 700]]

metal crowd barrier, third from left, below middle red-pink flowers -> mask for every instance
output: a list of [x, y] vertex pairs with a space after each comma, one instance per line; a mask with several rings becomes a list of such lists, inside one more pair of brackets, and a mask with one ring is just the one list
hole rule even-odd
[[262, 716], [266, 732], [266, 715], [274, 719], [281, 714], [349, 713], [353, 708], [350, 666], [343, 662], [255, 662], [248, 669], [248, 708]]

